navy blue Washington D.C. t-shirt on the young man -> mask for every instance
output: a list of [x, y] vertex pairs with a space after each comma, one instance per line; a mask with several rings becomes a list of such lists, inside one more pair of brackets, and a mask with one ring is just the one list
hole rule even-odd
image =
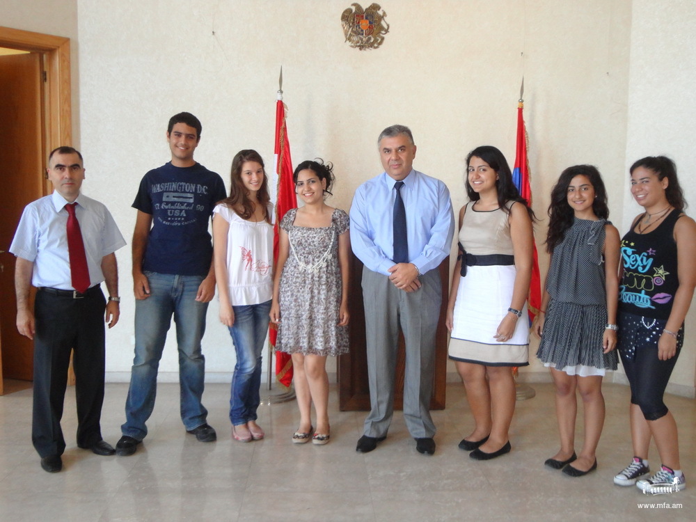
[[167, 163], [145, 174], [133, 202], [152, 214], [143, 270], [205, 277], [212, 260], [208, 223], [226, 196], [222, 178], [200, 164]]

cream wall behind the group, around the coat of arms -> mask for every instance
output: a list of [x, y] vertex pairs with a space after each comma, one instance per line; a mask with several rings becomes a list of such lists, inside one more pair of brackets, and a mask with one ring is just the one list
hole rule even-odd
[[[44, 2], [29, 3], [39, 11]], [[450, 0], [427, 7], [387, 1], [382, 6], [390, 33], [380, 49], [363, 52], [344, 42], [340, 14], [349, 3], [79, 2], [74, 49], [86, 192], [108, 203], [129, 237], [139, 180], [168, 160], [166, 122], [181, 110], [203, 121], [196, 158], [223, 178], [239, 149], [256, 148], [271, 161], [280, 65], [294, 163], [317, 156], [333, 161], [338, 180], [331, 203], [344, 209], [356, 187], [379, 173], [375, 139], [395, 122], [413, 129], [416, 168], [444, 180], [454, 206], [463, 205], [468, 150], [496, 145], [514, 161], [522, 76], [539, 242], [548, 193], [563, 168], [599, 167], [612, 219], [625, 231], [638, 211], [626, 197], [626, 166], [633, 158], [665, 141], [655, 152], [671, 153], [684, 167], [693, 164], [686, 136], [694, 124], [686, 120], [688, 110], [672, 109], [677, 100], [693, 99], [686, 93], [694, 83], [693, 57], [689, 62], [674, 53], [693, 49], [683, 44], [693, 42], [688, 26], [695, 13], [688, 1]], [[21, 18], [30, 11], [24, 8]], [[678, 82], [645, 74], [674, 68]], [[664, 113], [683, 125], [661, 118]], [[686, 168], [681, 174], [690, 175]], [[111, 379], [127, 377], [133, 347], [128, 248], [118, 258], [124, 299], [122, 321], [108, 338]], [[546, 264], [542, 255], [542, 271]], [[212, 379], [234, 365], [229, 335], [216, 317], [213, 303], [204, 340]], [[171, 337], [163, 372], [177, 371]], [[692, 355], [682, 357], [673, 381], [693, 390], [690, 346]], [[536, 347], [534, 340], [532, 359]], [[546, 376], [535, 360], [523, 372], [530, 379]]]

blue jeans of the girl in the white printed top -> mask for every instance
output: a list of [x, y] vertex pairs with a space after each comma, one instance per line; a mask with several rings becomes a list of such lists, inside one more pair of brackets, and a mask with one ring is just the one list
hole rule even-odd
[[261, 352], [268, 333], [271, 301], [265, 303], [232, 306], [235, 324], [230, 327], [235, 343], [237, 364], [232, 375], [230, 393], [230, 420], [232, 425], [256, 420], [256, 409], [261, 402]]

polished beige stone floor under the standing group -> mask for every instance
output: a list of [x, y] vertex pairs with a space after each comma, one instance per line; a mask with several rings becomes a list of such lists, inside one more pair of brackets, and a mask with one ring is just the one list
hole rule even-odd
[[[535, 383], [537, 396], [520, 401], [512, 452], [473, 461], [457, 448], [471, 429], [461, 384], [447, 388], [447, 409], [433, 412], [436, 454], [416, 452], [400, 412], [386, 441], [355, 452], [363, 412], [338, 411], [331, 388], [331, 442], [290, 442], [296, 404], [262, 404], [263, 441], [230, 437], [228, 387], [206, 386], [215, 443], [184, 432], [176, 384], [161, 384], [150, 434], [132, 457], [97, 457], [74, 444], [74, 388], [68, 390], [63, 471], [49, 474], [31, 446], [31, 389], [0, 397], [0, 521], [661, 521], [695, 520], [696, 402], [668, 396], [679, 424], [688, 488], [647, 496], [612, 484], [631, 459], [628, 389], [606, 384], [607, 420], [599, 468], [580, 478], [543, 465], [557, 450], [553, 386]], [[15, 386], [17, 388], [17, 386]], [[19, 386], [22, 388], [22, 386]], [[126, 384], [107, 384], [104, 438], [120, 436]], [[580, 409], [582, 411], [582, 409]], [[578, 423], [578, 440], [581, 440]], [[578, 444], [579, 449], [579, 444]], [[651, 466], [659, 463], [654, 446]], [[643, 503], [665, 507], [640, 507]], [[672, 505], [681, 505], [672, 507]]]

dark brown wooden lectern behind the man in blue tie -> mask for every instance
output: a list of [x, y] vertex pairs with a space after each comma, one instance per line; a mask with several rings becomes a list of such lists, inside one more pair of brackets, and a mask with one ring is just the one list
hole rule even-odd
[[[438, 268], [442, 281], [440, 319], [435, 333], [435, 378], [430, 409], [445, 409], [445, 383], [447, 381], [447, 339], [445, 312], [449, 296], [450, 258]], [[365, 308], [363, 307], [363, 263], [351, 253], [350, 353], [338, 358], [338, 404], [341, 411], [367, 411], [370, 409], [370, 386], [367, 383], [367, 354], [365, 349]], [[399, 334], [399, 348], [395, 374], [394, 409], [403, 409], [404, 370], [406, 354], [404, 336]]]

